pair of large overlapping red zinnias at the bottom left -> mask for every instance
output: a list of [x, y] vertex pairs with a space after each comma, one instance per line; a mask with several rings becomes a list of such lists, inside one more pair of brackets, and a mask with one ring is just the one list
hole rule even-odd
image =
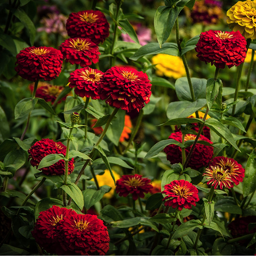
[[58, 206], [39, 214], [32, 235], [42, 249], [58, 256], [103, 256], [109, 250], [110, 237], [102, 220]]

